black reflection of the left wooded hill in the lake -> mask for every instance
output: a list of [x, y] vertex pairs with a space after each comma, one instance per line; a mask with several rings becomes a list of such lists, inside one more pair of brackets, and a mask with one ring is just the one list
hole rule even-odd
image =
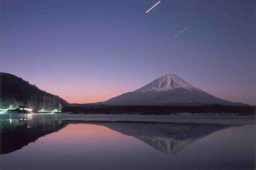
[[68, 123], [58, 120], [0, 120], [0, 154], [21, 149], [41, 136], [57, 132]]

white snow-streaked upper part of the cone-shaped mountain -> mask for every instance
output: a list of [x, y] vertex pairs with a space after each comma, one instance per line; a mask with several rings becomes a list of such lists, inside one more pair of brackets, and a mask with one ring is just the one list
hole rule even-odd
[[177, 88], [185, 88], [189, 91], [201, 91], [175, 74], [166, 74], [134, 92], [170, 91]]

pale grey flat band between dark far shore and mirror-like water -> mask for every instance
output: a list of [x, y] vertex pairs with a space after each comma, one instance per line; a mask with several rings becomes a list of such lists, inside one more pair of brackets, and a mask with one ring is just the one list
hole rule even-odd
[[166, 122], [210, 125], [256, 125], [255, 116], [237, 115], [111, 115], [111, 114], [2, 114], [0, 119], [64, 121]]

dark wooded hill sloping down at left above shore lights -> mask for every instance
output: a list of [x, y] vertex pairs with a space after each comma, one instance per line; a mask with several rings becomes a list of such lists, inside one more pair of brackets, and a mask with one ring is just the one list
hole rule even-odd
[[59, 96], [40, 90], [12, 74], [0, 73], [0, 108], [25, 105], [33, 110], [52, 110], [67, 105]]

